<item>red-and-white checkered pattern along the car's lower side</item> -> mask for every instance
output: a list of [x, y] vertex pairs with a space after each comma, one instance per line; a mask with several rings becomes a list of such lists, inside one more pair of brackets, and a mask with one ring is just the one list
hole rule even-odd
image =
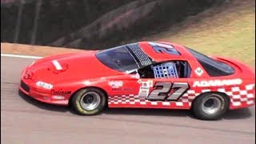
[[160, 106], [166, 108], [182, 108], [182, 109], [190, 109], [190, 106], [199, 94], [210, 92], [210, 91], [218, 91], [227, 94], [230, 97], [230, 109], [236, 109], [246, 106], [254, 105], [255, 97], [254, 97], [254, 84], [246, 85], [246, 86], [234, 86], [229, 88], [219, 88], [219, 89], [203, 89], [203, 90], [188, 90], [186, 94], [183, 94], [181, 98], [178, 99], [177, 102], [169, 101], [149, 101], [145, 98], [138, 98], [137, 94], [129, 94], [129, 95], [116, 95], [109, 97], [108, 104], [113, 107], [122, 107], [122, 106], [130, 106], [130, 107], [140, 107], [140, 106]]

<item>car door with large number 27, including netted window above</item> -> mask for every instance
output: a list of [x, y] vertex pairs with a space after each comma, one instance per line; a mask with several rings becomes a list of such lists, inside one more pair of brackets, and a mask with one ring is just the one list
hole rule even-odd
[[[140, 78], [138, 80], [140, 84], [138, 98], [145, 98], [150, 101], [178, 101], [187, 90], [190, 90], [191, 85], [190, 74], [186, 74], [188, 72], [191, 73], [190, 65], [186, 61], [182, 62], [186, 63], [186, 68], [182, 68], [182, 74], [178, 74], [178, 69], [174, 62], [165, 62], [154, 66], [154, 78]], [[169, 76], [168, 74], [164, 76], [165, 70], [162, 69], [161, 76], [161, 70], [159, 69], [165, 66], [168, 67], [167, 64], [174, 66], [174, 71], [169, 72]], [[171, 73], [175, 74], [171, 76]]]

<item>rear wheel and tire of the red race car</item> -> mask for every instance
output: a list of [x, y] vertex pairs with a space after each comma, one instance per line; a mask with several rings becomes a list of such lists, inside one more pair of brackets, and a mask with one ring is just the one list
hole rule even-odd
[[225, 94], [206, 93], [192, 104], [194, 116], [202, 120], [218, 120], [229, 109], [229, 98]]

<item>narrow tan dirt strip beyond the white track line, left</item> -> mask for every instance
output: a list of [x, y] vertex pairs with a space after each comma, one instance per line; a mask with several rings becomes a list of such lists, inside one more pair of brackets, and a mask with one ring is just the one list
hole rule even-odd
[[53, 54], [65, 54], [81, 51], [83, 50], [76, 50], [70, 48], [66, 49], [52, 46], [31, 46], [1, 42], [1, 54], [26, 54], [44, 57]]

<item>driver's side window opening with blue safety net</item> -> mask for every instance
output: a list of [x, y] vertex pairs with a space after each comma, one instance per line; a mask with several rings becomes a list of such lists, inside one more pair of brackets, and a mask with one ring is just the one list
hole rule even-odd
[[190, 78], [191, 68], [186, 61], [162, 62], [138, 70], [141, 78]]

